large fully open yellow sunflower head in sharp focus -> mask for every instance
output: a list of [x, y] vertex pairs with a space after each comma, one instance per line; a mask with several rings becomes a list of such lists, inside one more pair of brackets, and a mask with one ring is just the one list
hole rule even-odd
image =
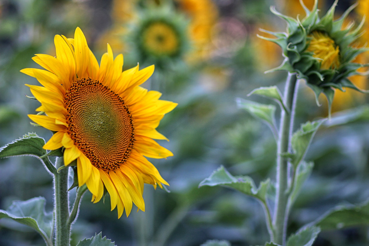
[[155, 188], [168, 183], [144, 156], [172, 156], [153, 139], [166, 139], [155, 128], [177, 104], [159, 100], [161, 93], [139, 86], [154, 66], [139, 70], [137, 65], [122, 72], [123, 55], [113, 59], [110, 45], [99, 66], [80, 28], [74, 39], [56, 35], [54, 42], [56, 58], [32, 58], [46, 70], [21, 70], [42, 84], [27, 86], [41, 103], [36, 111], [46, 114], [28, 116], [54, 132], [44, 149], [63, 147], [65, 166], [76, 160], [79, 186], [86, 183], [93, 202], [100, 201], [105, 187], [118, 218], [124, 208], [130, 214], [132, 202], [145, 211], [144, 183]]

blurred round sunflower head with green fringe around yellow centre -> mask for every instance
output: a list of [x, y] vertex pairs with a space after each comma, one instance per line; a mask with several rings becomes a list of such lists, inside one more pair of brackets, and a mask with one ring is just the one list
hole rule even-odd
[[161, 68], [182, 59], [189, 50], [187, 24], [184, 15], [169, 6], [143, 10], [131, 33], [139, 60]]

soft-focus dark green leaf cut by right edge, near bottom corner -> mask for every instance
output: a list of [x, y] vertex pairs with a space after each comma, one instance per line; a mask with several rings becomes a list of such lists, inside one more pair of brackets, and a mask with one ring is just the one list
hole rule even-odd
[[369, 225], [369, 200], [360, 205], [337, 206], [314, 222], [322, 230]]

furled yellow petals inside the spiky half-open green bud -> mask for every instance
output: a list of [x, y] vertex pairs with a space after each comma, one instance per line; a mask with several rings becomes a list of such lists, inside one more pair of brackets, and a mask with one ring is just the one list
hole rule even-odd
[[321, 69], [339, 67], [339, 46], [325, 33], [314, 31], [309, 35], [311, 41], [306, 51], [313, 52], [313, 57], [321, 60]]

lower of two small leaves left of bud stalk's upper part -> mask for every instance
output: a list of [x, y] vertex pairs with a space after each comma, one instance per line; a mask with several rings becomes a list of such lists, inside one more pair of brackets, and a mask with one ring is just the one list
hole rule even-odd
[[236, 98], [236, 102], [239, 108], [243, 108], [255, 118], [259, 118], [266, 122], [270, 129], [272, 129], [275, 137], [277, 137], [276, 121], [274, 117], [276, 111], [275, 105], [255, 103], [242, 98]]

